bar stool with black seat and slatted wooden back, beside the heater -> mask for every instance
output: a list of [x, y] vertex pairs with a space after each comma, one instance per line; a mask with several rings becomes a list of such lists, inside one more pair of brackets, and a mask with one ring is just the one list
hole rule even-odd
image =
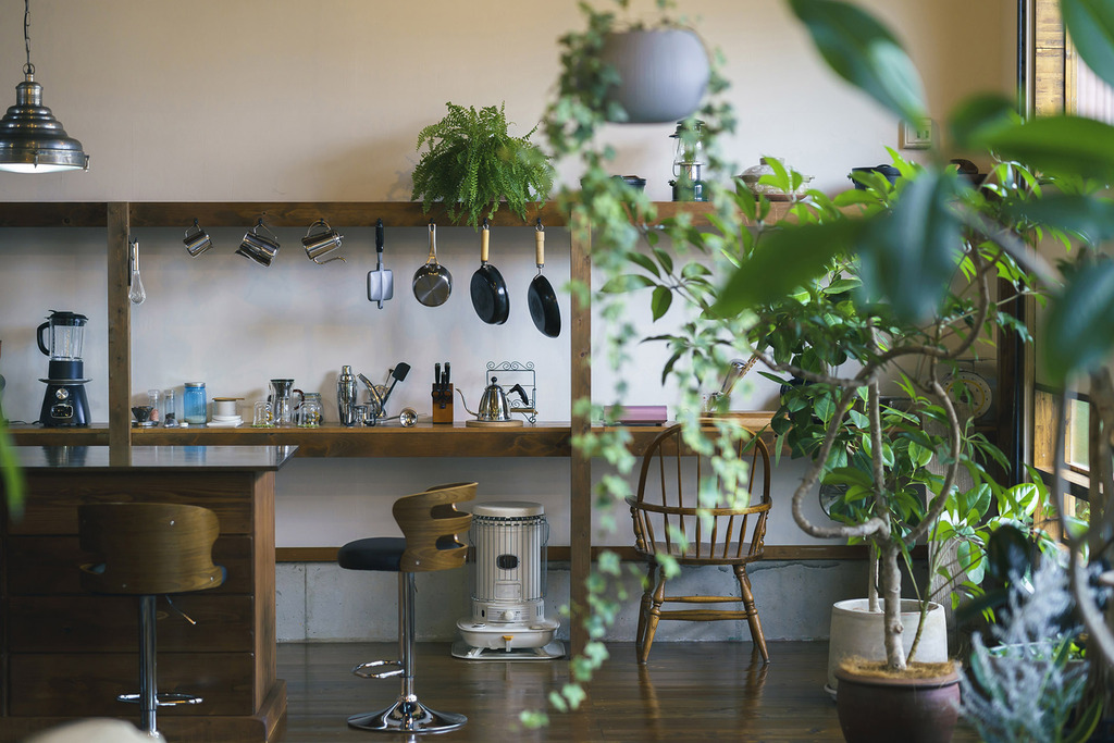
[[[414, 574], [448, 570], [465, 564], [468, 547], [457, 534], [468, 531], [472, 517], [458, 511], [455, 504], [475, 497], [475, 482], [455, 482], [399, 498], [391, 514], [402, 529], [402, 538], [356, 539], [338, 551], [336, 561], [342, 568], [399, 574], [401, 659], [361, 663], [352, 669], [362, 678], [401, 676], [399, 698], [385, 710], [352, 715], [348, 718], [350, 727], [388, 733], [443, 733], [468, 722], [465, 715], [427, 707], [414, 694]], [[395, 667], [380, 669], [383, 666]]]

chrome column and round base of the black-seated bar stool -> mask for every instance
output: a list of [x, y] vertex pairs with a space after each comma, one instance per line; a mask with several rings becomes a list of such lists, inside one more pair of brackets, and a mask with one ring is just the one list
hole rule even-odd
[[414, 694], [413, 573], [399, 573], [399, 657], [402, 658], [399, 698], [385, 710], [352, 715], [349, 726], [378, 733], [444, 733], [463, 726], [468, 722], [465, 715], [430, 710]]

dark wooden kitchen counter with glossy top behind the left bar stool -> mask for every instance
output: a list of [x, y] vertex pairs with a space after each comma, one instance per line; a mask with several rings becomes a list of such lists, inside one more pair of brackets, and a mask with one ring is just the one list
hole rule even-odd
[[[286, 685], [275, 666], [275, 472], [294, 447], [16, 447], [23, 512], [0, 512], [0, 741], [68, 720], [127, 716], [116, 695], [138, 686], [134, 597], [85, 590], [77, 508], [88, 502], [179, 502], [212, 509], [213, 558], [227, 569], [212, 590], [175, 597], [158, 619], [158, 683], [204, 697], [166, 707], [174, 741], [275, 741]], [[6, 502], [6, 501], [4, 501]], [[162, 604], [162, 599], [160, 599]]]

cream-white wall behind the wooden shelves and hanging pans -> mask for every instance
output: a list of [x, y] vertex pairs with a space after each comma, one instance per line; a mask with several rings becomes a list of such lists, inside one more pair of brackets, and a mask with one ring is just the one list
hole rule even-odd
[[[968, 92], [1012, 88], [1013, 3], [866, 4], [908, 43], [938, 119]], [[22, 8], [0, 2], [0, 82], [12, 88], [23, 62]], [[848, 185], [849, 168], [888, 159], [897, 123], [822, 67], [784, 3], [697, 0], [684, 9], [727, 57], [739, 114], [729, 150], [740, 170], [776, 155], [837, 192]], [[570, 0], [37, 0], [31, 10], [45, 102], [84, 143], [91, 168], [0, 174], [7, 201], [405, 201], [418, 131], [443, 115], [444, 102], [506, 101], [516, 131], [526, 131], [556, 77], [557, 37], [580, 25]], [[662, 201], [670, 194], [671, 130], [643, 125], [608, 133], [619, 151], [615, 172], [646, 177], [651, 196]], [[280, 256], [262, 270], [232, 255], [240, 229], [214, 231], [217, 248], [189, 260], [179, 243], [187, 226], [136, 232], [149, 297], [133, 312], [137, 400], [149, 387], [193, 380], [206, 381], [209, 397], [251, 399], [272, 377], [293, 377], [329, 400], [341, 364], [380, 380], [407, 361], [412, 377], [399, 384], [392, 407], [428, 410], [433, 362], [452, 361], [475, 404], [483, 364], [517, 360], [538, 366], [543, 419], [568, 418], [567, 331], [545, 339], [525, 312], [534, 273], [529, 229], [492, 234], [492, 262], [511, 287], [512, 309], [506, 325], [491, 327], [468, 306], [465, 285], [478, 241], [467, 228], [438, 231], [457, 291], [448, 305], [428, 309], [408, 291], [424, 261], [426, 231], [388, 225], [387, 265], [397, 293], [380, 311], [364, 299], [374, 266], [370, 231], [334, 225], [345, 233], [350, 261], [328, 266], [300, 254], [302, 231], [280, 231]], [[568, 277], [567, 235], [547, 234], [546, 272], [560, 286]], [[98, 231], [0, 231], [0, 369], [9, 418], [38, 413], [46, 360], [35, 348], [35, 327], [49, 310], [72, 310], [90, 317], [89, 393], [94, 418], [107, 419], [102, 256]], [[561, 302], [567, 319], [567, 297]], [[595, 327], [604, 332], [602, 323]], [[631, 400], [671, 402], [657, 387], [659, 352], [642, 353]], [[608, 385], [603, 375], [597, 382]], [[760, 385], [739, 407], [766, 408], [772, 393]], [[551, 544], [567, 544], [567, 472], [566, 461], [547, 460], [295, 461], [278, 478], [278, 545], [329, 546], [393, 532], [395, 496], [461, 478], [480, 480], [487, 499], [546, 504]], [[782, 500], [794, 472], [786, 468], [778, 480]], [[768, 541], [805, 541], [786, 508], [774, 509]]]

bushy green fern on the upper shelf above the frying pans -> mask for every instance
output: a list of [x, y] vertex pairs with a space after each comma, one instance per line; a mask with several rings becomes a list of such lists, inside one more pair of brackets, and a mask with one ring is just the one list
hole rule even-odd
[[526, 218], [528, 202], [544, 202], [553, 188], [554, 169], [549, 157], [530, 144], [530, 129], [521, 137], [507, 130], [505, 104], [478, 111], [469, 106], [446, 104], [449, 113], [418, 135], [418, 150], [428, 149], [413, 172], [411, 198], [422, 201], [429, 212], [443, 202], [450, 219], [467, 217], [476, 227], [480, 217], [490, 217], [499, 204]]

